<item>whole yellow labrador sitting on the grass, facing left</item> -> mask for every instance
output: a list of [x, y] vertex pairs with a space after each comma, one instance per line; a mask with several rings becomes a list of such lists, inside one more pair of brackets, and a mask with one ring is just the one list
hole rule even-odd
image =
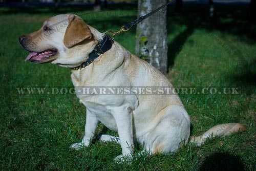
[[[120, 143], [122, 155], [117, 158], [132, 157], [135, 143], [143, 144], [150, 154], [167, 154], [189, 141], [190, 118], [177, 94], [78, 93], [81, 87], [173, 88], [156, 68], [84, 23], [79, 16], [63, 14], [51, 17], [38, 31], [20, 36], [19, 42], [31, 52], [26, 60], [71, 68], [77, 97], [86, 106], [87, 115], [85, 135], [71, 148], [88, 146], [99, 121], [118, 132], [119, 137], [99, 136], [100, 140]], [[93, 57], [90, 59], [90, 56]], [[206, 138], [243, 130], [245, 127], [239, 123], [221, 124], [199, 137], [191, 137], [190, 141], [201, 145]]]

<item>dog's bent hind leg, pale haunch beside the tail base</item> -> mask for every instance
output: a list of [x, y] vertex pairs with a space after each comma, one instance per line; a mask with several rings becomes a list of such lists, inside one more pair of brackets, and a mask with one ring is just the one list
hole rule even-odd
[[159, 113], [163, 117], [147, 137], [147, 146], [152, 154], [175, 152], [186, 144], [190, 132], [187, 112], [178, 105], [169, 105]]

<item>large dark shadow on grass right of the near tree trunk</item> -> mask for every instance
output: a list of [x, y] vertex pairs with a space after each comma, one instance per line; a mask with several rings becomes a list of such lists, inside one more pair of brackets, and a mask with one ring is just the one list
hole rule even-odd
[[[255, 44], [256, 23], [251, 20], [251, 17], [248, 17], [247, 5], [216, 5], [217, 20], [214, 25], [210, 24], [208, 9], [208, 5], [184, 5], [182, 13], [176, 13], [174, 6], [168, 7], [169, 17], [167, 23], [185, 25], [187, 27], [184, 32], [181, 32], [168, 44], [168, 68], [174, 65], [176, 56], [195, 29], [218, 30], [227, 34], [237, 35], [240, 41], [244, 41], [247, 44]], [[172, 33], [172, 26], [167, 25], [168, 33]]]

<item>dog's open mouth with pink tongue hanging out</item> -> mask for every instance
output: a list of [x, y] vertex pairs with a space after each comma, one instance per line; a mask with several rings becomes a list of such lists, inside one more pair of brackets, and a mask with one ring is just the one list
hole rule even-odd
[[44, 60], [44, 62], [48, 60], [48, 58], [54, 56], [57, 54], [57, 49], [48, 49], [46, 51], [42, 51], [42, 52], [31, 52], [27, 58], [25, 59], [25, 61], [29, 60], [31, 62], [40, 62], [41, 60]]

